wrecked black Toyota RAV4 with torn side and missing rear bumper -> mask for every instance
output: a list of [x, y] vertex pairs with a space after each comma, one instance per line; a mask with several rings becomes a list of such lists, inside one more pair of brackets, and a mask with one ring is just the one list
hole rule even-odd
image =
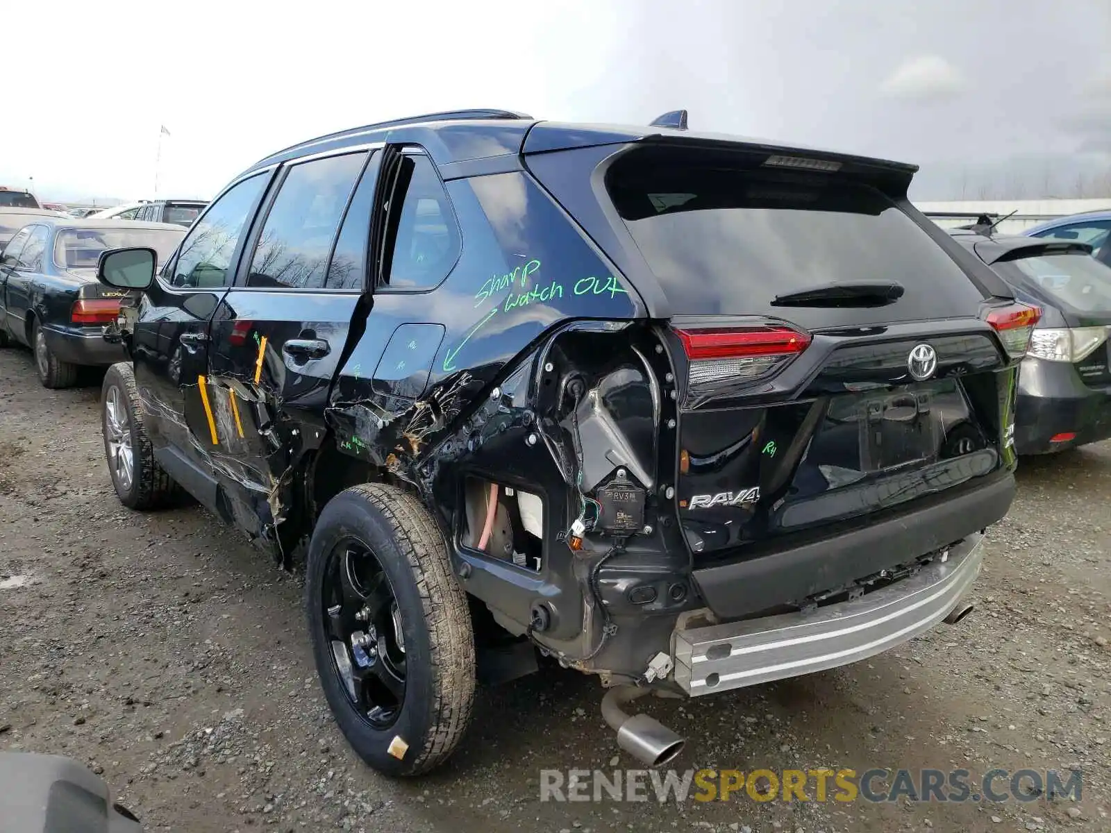
[[625, 704], [849, 663], [959, 620], [1014, 491], [1038, 311], [907, 200], [912, 165], [462, 111], [243, 172], [106, 338], [116, 491], [286, 565], [328, 702], [394, 774], [476, 682]]

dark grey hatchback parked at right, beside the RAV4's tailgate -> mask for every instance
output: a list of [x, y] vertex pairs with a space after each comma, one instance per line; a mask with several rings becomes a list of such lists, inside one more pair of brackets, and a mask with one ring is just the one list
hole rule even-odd
[[1015, 298], [1042, 309], [1019, 371], [1015, 451], [1044, 454], [1111, 436], [1111, 267], [1079, 240], [951, 233]]

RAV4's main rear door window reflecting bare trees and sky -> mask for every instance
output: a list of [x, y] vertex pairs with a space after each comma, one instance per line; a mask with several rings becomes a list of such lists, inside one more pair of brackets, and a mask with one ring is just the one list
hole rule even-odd
[[328, 253], [366, 161], [366, 153], [347, 153], [289, 169], [259, 235], [247, 285], [324, 285]]

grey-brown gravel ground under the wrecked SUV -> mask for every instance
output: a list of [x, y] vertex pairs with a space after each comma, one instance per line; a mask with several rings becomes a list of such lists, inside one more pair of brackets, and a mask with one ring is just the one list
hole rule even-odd
[[542, 769], [633, 765], [593, 681], [546, 670], [480, 691], [447, 767], [374, 774], [324, 706], [300, 579], [199, 509], [120, 506], [98, 398], [96, 375], [47, 391], [28, 353], [0, 351], [0, 749], [87, 763], [147, 830], [1111, 829], [1109, 445], [1023, 461], [961, 624], [644, 706], [688, 737], [680, 770], [1082, 767], [1079, 803], [541, 803]]

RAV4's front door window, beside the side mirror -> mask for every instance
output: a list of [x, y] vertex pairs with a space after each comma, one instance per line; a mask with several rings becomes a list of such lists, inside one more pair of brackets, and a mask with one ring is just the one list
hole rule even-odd
[[172, 285], [203, 289], [227, 285], [231, 255], [267, 180], [267, 174], [257, 174], [239, 182], [193, 224], [178, 247], [170, 275]]

